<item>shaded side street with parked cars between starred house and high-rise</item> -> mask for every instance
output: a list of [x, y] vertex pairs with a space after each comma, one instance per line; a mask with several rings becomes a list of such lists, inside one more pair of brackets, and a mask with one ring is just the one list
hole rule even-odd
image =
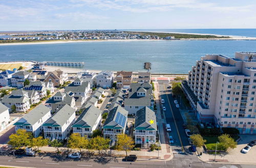
[[[188, 137], [185, 134], [185, 130], [182, 125], [184, 124], [183, 118], [180, 114], [179, 109], [175, 106], [174, 98], [170, 89], [167, 89], [168, 83], [159, 83], [159, 90], [161, 99], [164, 99], [165, 103], [163, 106], [166, 107], [165, 120], [167, 124], [170, 124], [172, 132], [169, 132], [169, 135], [172, 135], [174, 138], [174, 144], [172, 144], [173, 152], [184, 152], [188, 150]], [[193, 153], [189, 152], [191, 155]]]

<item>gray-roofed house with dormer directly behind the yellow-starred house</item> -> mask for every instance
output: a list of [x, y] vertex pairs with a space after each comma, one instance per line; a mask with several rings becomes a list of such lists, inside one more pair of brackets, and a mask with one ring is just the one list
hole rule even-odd
[[132, 83], [128, 90], [127, 98], [124, 98], [124, 108], [129, 114], [136, 112], [143, 107], [154, 107], [154, 95], [150, 83]]

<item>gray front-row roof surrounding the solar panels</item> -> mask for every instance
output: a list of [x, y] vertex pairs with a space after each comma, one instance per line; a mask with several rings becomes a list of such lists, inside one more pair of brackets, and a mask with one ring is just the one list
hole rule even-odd
[[[108, 117], [106, 117], [105, 123], [103, 125], [106, 126], [108, 124], [110, 124], [112, 121], [115, 123], [115, 126], [119, 125], [118, 123], [115, 122], [117, 113], [122, 114], [124, 117], [126, 117], [126, 122], [125, 125], [127, 123], [127, 116], [128, 116], [128, 111], [125, 110], [124, 108], [122, 108], [120, 105], [117, 105], [116, 107], [114, 107], [113, 109], [110, 110]], [[120, 127], [122, 127], [121, 125], [119, 125]]]

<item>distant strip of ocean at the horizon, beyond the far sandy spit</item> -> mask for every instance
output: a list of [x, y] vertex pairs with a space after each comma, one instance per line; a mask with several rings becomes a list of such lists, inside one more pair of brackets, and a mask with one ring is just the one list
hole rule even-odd
[[256, 37], [256, 29], [133, 29], [127, 31], [199, 33], [223, 36]]

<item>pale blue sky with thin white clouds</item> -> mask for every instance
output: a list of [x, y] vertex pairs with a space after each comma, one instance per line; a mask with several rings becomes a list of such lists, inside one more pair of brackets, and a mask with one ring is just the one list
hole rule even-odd
[[0, 0], [0, 31], [255, 29], [255, 0]]

